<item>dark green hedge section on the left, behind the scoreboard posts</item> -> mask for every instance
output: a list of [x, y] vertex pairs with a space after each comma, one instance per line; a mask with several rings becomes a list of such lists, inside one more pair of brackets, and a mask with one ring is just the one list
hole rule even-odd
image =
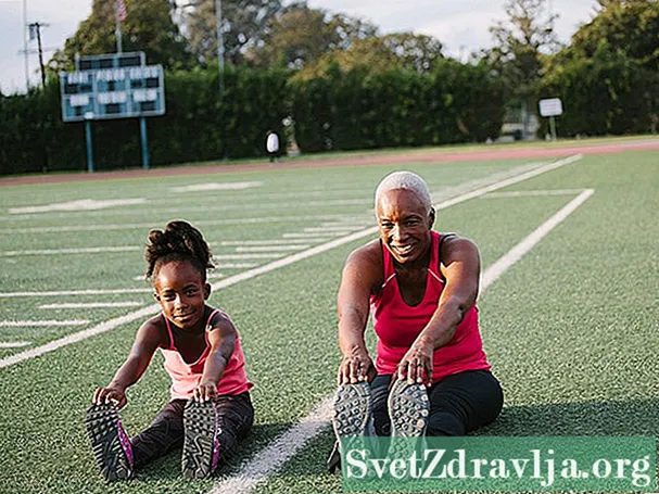
[[[218, 101], [217, 72], [168, 73], [166, 114], [147, 119], [154, 166], [265, 155], [270, 129], [283, 135], [288, 74], [227, 71]], [[62, 123], [56, 79], [45, 90], [0, 97], [0, 174], [87, 169], [84, 123]], [[94, 168], [141, 166], [139, 119], [91, 124]]]

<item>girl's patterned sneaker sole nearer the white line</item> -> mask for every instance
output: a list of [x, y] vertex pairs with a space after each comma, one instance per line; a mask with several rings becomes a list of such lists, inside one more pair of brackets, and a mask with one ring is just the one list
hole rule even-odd
[[183, 409], [183, 478], [207, 479], [217, 468], [219, 460], [220, 430], [215, 403], [189, 400]]

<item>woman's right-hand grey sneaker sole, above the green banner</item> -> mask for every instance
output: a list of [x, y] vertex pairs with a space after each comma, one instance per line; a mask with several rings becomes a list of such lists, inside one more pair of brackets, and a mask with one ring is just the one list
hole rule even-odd
[[391, 435], [418, 438], [428, 427], [429, 402], [423, 384], [407, 384], [397, 380], [386, 401], [391, 419]]

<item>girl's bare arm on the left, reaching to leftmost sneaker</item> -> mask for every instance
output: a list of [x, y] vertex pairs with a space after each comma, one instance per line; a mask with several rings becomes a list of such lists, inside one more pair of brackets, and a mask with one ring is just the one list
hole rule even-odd
[[162, 331], [153, 320], [148, 320], [138, 330], [126, 362], [116, 371], [105, 388], [93, 393], [93, 403], [102, 405], [116, 402], [118, 408], [128, 403], [126, 389], [136, 383], [149, 367], [149, 363], [161, 344]]

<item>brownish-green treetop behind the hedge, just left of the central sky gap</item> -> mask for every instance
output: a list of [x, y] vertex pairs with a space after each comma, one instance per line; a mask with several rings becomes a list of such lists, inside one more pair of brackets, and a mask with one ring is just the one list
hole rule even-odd
[[253, 47], [248, 56], [257, 66], [299, 69], [376, 34], [375, 26], [359, 18], [329, 15], [324, 10], [297, 3], [270, 21], [263, 41]]

